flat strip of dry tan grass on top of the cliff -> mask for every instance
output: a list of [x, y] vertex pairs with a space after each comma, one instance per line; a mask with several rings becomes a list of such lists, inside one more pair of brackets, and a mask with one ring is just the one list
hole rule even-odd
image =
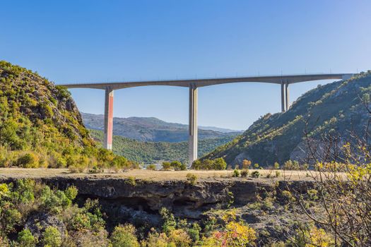
[[[283, 171], [278, 170], [279, 176], [276, 177], [276, 170], [249, 170], [249, 174], [253, 171], [259, 171], [261, 176], [260, 180], [310, 180], [312, 176], [316, 175], [315, 171]], [[29, 178], [29, 179], [40, 179], [43, 177], [69, 177], [69, 178], [91, 178], [91, 179], [108, 179], [117, 178], [125, 179], [129, 176], [135, 179], [146, 179], [152, 181], [167, 181], [167, 180], [185, 180], [187, 174], [192, 173], [198, 176], [200, 179], [213, 179], [213, 178], [225, 178], [231, 177], [233, 171], [200, 171], [200, 170], [187, 170], [187, 171], [151, 171], [144, 169], [133, 169], [129, 171], [105, 171], [99, 174], [89, 173], [71, 173], [69, 169], [24, 169], [24, 168], [0, 168], [0, 179], [6, 178]], [[271, 174], [271, 176], [269, 176]], [[251, 179], [249, 177], [249, 179]]]

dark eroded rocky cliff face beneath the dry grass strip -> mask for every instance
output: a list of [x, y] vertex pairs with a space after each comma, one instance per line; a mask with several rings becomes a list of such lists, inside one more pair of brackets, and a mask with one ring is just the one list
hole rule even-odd
[[[0, 183], [15, 181], [0, 178]], [[216, 210], [240, 208], [239, 217], [250, 224], [266, 219], [249, 210], [247, 205], [267, 196], [280, 197], [287, 186], [306, 191], [311, 181], [273, 181], [271, 179], [213, 178], [199, 179], [194, 184], [184, 180], [148, 181], [146, 179], [97, 177], [45, 177], [35, 179], [49, 186], [65, 189], [78, 188], [78, 200], [98, 198], [107, 214], [108, 226], [131, 222], [136, 225], [157, 226], [161, 222], [158, 211], [166, 207], [175, 217], [201, 220]], [[308, 187], [309, 186], [309, 187]], [[261, 225], [261, 224], [260, 224]]]

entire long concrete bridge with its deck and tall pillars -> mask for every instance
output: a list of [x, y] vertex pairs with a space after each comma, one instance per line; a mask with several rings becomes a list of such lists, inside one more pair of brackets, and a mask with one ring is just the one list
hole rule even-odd
[[329, 80], [351, 78], [350, 73], [305, 74], [288, 76], [254, 76], [231, 78], [203, 78], [190, 80], [146, 80], [117, 83], [74, 83], [64, 84], [66, 88], [95, 88], [105, 90], [105, 141], [104, 147], [112, 150], [113, 135], [113, 92], [122, 88], [134, 88], [152, 85], [167, 85], [189, 88], [189, 164], [197, 159], [197, 88], [225, 83], [275, 83], [281, 85], [281, 110], [289, 109], [288, 85], [311, 80]]

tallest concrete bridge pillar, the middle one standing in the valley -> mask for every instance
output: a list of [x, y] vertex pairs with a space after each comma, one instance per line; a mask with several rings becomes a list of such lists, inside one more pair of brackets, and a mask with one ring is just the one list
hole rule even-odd
[[189, 166], [197, 159], [197, 87], [189, 85]]

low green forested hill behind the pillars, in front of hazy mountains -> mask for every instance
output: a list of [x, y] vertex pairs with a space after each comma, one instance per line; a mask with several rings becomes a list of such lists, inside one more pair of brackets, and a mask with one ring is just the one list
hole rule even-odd
[[[102, 131], [90, 130], [90, 135], [99, 143], [102, 143]], [[199, 155], [206, 155], [216, 147], [228, 143], [233, 138], [233, 136], [225, 136], [222, 138], [199, 140]], [[124, 138], [120, 135], [114, 135], [112, 149], [117, 155], [123, 155], [135, 162], [146, 164], [173, 160], [188, 161], [188, 142], [142, 142]]]

